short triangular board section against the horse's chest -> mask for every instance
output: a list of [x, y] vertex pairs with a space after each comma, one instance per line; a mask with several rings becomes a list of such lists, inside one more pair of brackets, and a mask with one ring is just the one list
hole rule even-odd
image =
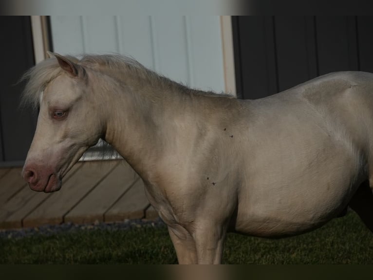
[[104, 215], [104, 221], [123, 221], [125, 219], [142, 219], [149, 207], [145, 195], [144, 183], [137, 180]]

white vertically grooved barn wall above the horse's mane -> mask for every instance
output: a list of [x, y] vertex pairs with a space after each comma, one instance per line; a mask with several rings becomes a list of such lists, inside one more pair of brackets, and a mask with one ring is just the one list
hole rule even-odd
[[51, 16], [60, 54], [129, 55], [190, 87], [223, 92], [219, 16]]

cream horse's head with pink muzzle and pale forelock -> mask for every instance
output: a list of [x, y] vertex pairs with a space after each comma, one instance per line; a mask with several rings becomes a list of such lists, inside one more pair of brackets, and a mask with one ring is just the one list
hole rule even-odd
[[[89, 75], [77, 61], [54, 54], [57, 73], [39, 87], [39, 114], [34, 139], [28, 151], [22, 176], [31, 189], [53, 192], [83, 153], [100, 138], [103, 125], [96, 118], [97, 103], [92, 99]], [[53, 62], [53, 61], [52, 61]], [[37, 66], [27, 86], [42, 82]]]

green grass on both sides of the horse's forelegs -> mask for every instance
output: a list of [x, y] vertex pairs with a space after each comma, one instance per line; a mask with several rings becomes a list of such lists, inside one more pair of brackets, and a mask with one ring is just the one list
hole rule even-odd
[[[177, 263], [166, 227], [81, 230], [53, 236], [0, 239], [0, 263]], [[224, 263], [372, 264], [373, 234], [350, 213], [316, 231], [269, 240], [230, 233]]]

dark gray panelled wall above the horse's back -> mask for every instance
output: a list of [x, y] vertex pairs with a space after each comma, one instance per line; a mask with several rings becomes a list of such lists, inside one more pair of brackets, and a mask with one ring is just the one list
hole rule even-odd
[[373, 72], [372, 17], [258, 16], [232, 22], [236, 84], [244, 99], [330, 72]]

